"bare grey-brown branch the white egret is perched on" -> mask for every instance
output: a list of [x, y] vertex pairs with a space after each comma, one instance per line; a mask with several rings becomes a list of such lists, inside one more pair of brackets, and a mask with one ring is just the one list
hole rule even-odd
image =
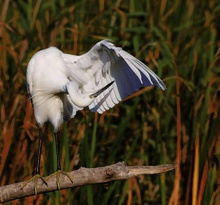
[[[67, 189], [76, 186], [89, 184], [100, 184], [115, 180], [125, 180], [141, 174], [158, 174], [175, 169], [176, 165], [165, 164], [158, 166], [126, 166], [119, 162], [113, 165], [97, 168], [80, 168], [76, 171], [68, 172], [73, 183], [65, 175], [60, 175], [60, 189]], [[22, 190], [21, 187], [25, 182], [19, 182], [11, 185], [0, 187], [0, 202], [7, 202], [34, 195], [34, 182], [28, 183]], [[38, 194], [56, 191], [56, 176], [47, 181], [47, 185], [41, 179], [37, 183]]]

